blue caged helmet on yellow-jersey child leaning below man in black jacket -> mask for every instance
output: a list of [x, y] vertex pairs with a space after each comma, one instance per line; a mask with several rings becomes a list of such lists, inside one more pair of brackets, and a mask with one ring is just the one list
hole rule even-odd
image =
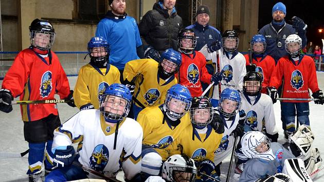
[[181, 53], [169, 48], [162, 53], [158, 70], [159, 74], [169, 78], [174, 75], [181, 66]]

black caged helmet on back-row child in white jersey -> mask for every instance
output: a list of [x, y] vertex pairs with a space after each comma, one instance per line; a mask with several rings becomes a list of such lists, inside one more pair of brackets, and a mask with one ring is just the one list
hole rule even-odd
[[[222, 35], [223, 48], [227, 52], [236, 51], [239, 47], [239, 34], [235, 30], [225, 30]], [[232, 41], [235, 40], [235, 41]], [[229, 41], [230, 43], [226, 43]]]

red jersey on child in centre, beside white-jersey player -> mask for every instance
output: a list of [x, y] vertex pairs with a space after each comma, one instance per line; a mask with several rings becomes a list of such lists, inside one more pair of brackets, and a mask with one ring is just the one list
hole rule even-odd
[[206, 59], [199, 51], [192, 54], [181, 53], [181, 56], [181, 66], [175, 76], [179, 84], [189, 89], [192, 97], [200, 97], [203, 94], [201, 82], [210, 84], [211, 79], [206, 69]]

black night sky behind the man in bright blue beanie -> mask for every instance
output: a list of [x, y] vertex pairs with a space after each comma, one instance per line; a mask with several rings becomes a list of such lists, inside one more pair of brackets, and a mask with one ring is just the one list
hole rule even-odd
[[[272, 8], [282, 2], [286, 6], [286, 23], [292, 24], [290, 20], [293, 16], [300, 17], [307, 25], [307, 40], [314, 45], [322, 47], [319, 28], [324, 29], [324, 1], [289, 0], [289, 1], [259, 1], [259, 30], [272, 21]], [[262, 13], [261, 13], [262, 12]], [[323, 35], [324, 36], [324, 35]]]

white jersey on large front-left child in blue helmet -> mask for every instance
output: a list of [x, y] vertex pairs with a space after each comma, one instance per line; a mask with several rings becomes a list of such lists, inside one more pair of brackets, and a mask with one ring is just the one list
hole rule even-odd
[[80, 111], [55, 130], [52, 148], [81, 140], [78, 152], [83, 166], [110, 177], [122, 168], [131, 179], [141, 170], [142, 128], [131, 118], [120, 121], [114, 150], [115, 129], [99, 110]]

